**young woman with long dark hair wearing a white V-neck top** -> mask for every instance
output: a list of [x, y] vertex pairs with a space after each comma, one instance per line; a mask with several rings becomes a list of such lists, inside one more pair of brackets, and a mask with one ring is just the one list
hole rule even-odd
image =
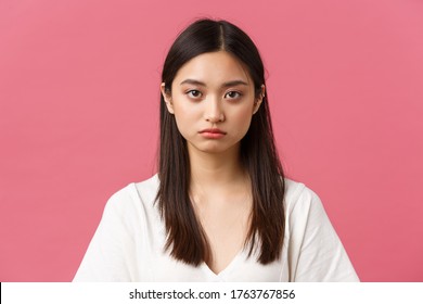
[[284, 177], [257, 48], [191, 24], [161, 85], [158, 173], [106, 204], [75, 281], [357, 281], [319, 198]]

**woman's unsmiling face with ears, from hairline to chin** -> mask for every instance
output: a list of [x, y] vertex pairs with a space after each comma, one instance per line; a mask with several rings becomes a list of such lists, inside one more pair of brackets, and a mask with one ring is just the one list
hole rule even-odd
[[189, 151], [208, 153], [239, 149], [262, 96], [255, 96], [245, 66], [225, 51], [187, 62], [171, 84], [171, 93], [165, 92], [165, 84], [162, 93]]

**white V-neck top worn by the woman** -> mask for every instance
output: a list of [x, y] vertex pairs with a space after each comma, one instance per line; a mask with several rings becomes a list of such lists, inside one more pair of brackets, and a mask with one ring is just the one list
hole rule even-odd
[[358, 281], [318, 195], [286, 180], [281, 256], [268, 265], [241, 251], [219, 274], [164, 252], [166, 230], [154, 199], [157, 175], [130, 183], [107, 202], [74, 281]]

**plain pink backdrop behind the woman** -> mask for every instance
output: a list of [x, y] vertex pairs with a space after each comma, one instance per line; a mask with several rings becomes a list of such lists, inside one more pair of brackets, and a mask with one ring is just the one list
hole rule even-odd
[[0, 281], [69, 281], [108, 197], [154, 174], [159, 74], [198, 16], [267, 66], [287, 175], [363, 281], [423, 281], [423, 1], [0, 1]]

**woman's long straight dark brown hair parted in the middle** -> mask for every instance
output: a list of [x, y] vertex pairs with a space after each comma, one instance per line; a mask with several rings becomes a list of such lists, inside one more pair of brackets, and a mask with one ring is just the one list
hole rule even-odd
[[[207, 52], [226, 51], [239, 59], [261, 93], [265, 69], [252, 39], [226, 21], [200, 20], [188, 26], [171, 46], [162, 73], [167, 93], [178, 71], [191, 59]], [[178, 130], [175, 116], [161, 98], [159, 188], [156, 202], [165, 220], [165, 250], [176, 259], [200, 265], [213, 259], [209, 242], [190, 200], [190, 159], [187, 141]], [[241, 161], [252, 183], [253, 210], [244, 245], [248, 256], [258, 251], [257, 261], [271, 263], [280, 257], [285, 229], [284, 174], [271, 126], [267, 93], [253, 115], [249, 129], [241, 140]]]

